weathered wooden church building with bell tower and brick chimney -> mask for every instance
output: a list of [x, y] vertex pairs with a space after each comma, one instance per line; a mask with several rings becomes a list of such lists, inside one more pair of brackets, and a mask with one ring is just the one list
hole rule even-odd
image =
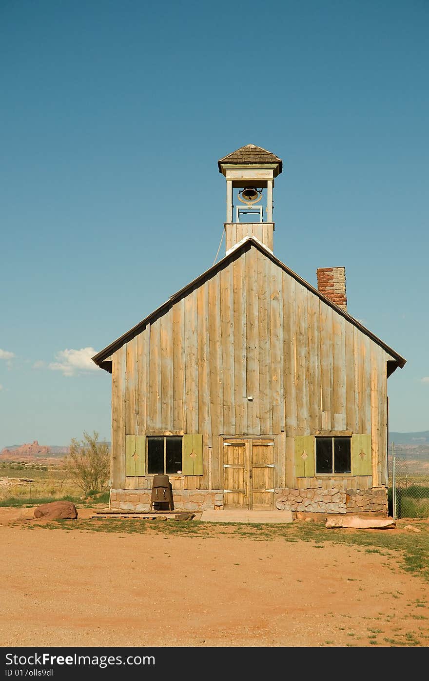
[[386, 513], [388, 377], [405, 360], [347, 313], [345, 270], [318, 288], [273, 253], [282, 161], [218, 162], [226, 254], [93, 358], [112, 375], [111, 508]]

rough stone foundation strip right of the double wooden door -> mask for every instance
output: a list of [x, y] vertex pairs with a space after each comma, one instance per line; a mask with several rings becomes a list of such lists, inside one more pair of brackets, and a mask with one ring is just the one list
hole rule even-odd
[[388, 495], [384, 487], [372, 490], [340, 490], [337, 487], [329, 490], [286, 488], [278, 490], [275, 507], [279, 511], [307, 511], [307, 513], [387, 514]]

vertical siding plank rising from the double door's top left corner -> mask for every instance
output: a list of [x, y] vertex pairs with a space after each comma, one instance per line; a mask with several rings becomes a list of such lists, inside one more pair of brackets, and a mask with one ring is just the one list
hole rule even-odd
[[224, 370], [224, 429], [235, 433], [233, 266], [220, 272], [220, 326]]

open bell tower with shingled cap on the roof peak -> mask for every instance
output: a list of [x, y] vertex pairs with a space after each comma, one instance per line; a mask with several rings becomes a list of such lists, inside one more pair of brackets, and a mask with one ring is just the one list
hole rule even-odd
[[273, 251], [273, 187], [283, 162], [271, 151], [246, 144], [218, 161], [226, 178], [226, 253], [245, 236]]

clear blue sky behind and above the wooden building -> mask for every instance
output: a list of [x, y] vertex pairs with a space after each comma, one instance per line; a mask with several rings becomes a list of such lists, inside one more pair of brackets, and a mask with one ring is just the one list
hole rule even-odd
[[345, 266], [349, 313], [408, 360], [390, 430], [429, 429], [428, 18], [426, 0], [1, 0], [0, 447], [109, 439], [111, 377], [85, 349], [213, 264], [217, 161], [249, 143], [284, 160], [275, 255], [313, 285]]

